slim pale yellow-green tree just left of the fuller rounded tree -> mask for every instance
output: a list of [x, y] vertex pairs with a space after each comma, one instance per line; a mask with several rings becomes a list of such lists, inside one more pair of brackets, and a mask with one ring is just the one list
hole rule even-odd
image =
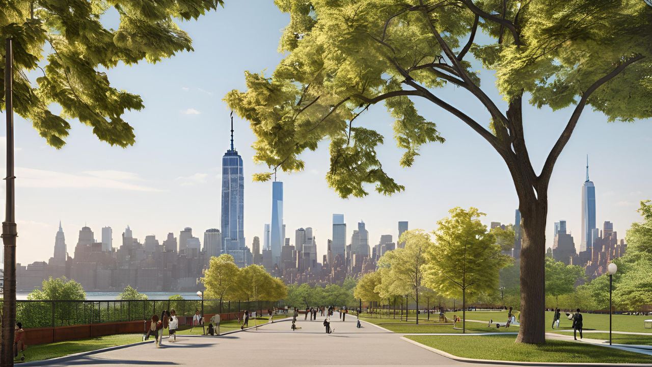
[[426, 263], [426, 251], [433, 246], [433, 243], [430, 235], [419, 229], [403, 232], [398, 242], [404, 242], [405, 247], [387, 251], [380, 258], [379, 266], [387, 266], [392, 278], [408, 285], [417, 303], [417, 325], [419, 325], [419, 293], [423, 281], [423, 267]]

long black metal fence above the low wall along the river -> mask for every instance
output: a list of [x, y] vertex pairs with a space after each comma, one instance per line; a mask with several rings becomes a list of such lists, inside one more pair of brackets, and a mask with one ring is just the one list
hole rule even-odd
[[[201, 311], [201, 300], [18, 300], [16, 321], [25, 328], [62, 327], [121, 321], [147, 320], [163, 310], [174, 309], [177, 316], [192, 316]], [[230, 313], [267, 310], [277, 302], [203, 300], [203, 313]], [[0, 309], [2, 301], [0, 300]]]

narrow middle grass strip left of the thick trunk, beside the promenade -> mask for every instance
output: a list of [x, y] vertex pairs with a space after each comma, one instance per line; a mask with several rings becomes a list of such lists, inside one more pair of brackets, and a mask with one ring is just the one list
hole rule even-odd
[[[452, 328], [450, 324], [436, 324], [432, 321], [426, 321], [419, 319], [419, 325], [415, 324], [414, 320], [411, 321], [399, 321], [398, 319], [377, 319], [374, 317], [361, 317], [363, 321], [367, 321], [372, 324], [379, 325], [380, 327], [386, 328], [393, 332], [398, 332], [400, 334], [424, 334], [424, 333], [451, 333], [451, 332], [462, 332], [462, 323], [458, 323], [458, 328]], [[437, 317], [437, 320], [439, 317]], [[495, 326], [487, 327], [487, 324], [475, 323], [472, 321], [466, 322], [466, 331], [467, 332], [518, 332], [518, 327], [510, 328], [496, 328]]]

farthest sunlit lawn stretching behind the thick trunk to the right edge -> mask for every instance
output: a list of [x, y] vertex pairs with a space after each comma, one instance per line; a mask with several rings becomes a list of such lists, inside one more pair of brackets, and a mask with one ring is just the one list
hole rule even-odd
[[[451, 312], [446, 313], [448, 317], [452, 317]], [[461, 312], [456, 312], [456, 315], [459, 314], [462, 317]], [[546, 312], [546, 331], [556, 331], [558, 329], [552, 328], [552, 317], [554, 313], [552, 311]], [[609, 330], [609, 315], [597, 314], [597, 313], [582, 313], [582, 318], [584, 319], [584, 328], [593, 329], [593, 330]], [[652, 333], [652, 330], [649, 328], [644, 328], [643, 321], [651, 319], [652, 316], [643, 316], [643, 315], [613, 315], [613, 328], [614, 331], [630, 331], [630, 332], [649, 332]], [[507, 320], [507, 311], [467, 311], [466, 319], [468, 320], [480, 320], [480, 321], [489, 321], [493, 319], [496, 321], [506, 321]], [[572, 321], [567, 319], [564, 313], [561, 314], [561, 322], [559, 323], [561, 329], [569, 329], [572, 327]]]

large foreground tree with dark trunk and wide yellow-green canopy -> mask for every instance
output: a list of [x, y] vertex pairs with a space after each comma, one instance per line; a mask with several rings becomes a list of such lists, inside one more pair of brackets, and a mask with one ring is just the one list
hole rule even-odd
[[[548, 184], [585, 106], [609, 120], [652, 116], [652, 7], [642, 0], [277, 0], [290, 21], [280, 40], [286, 57], [271, 77], [246, 74], [247, 90], [226, 101], [251, 121], [254, 159], [271, 171], [304, 168], [299, 154], [330, 140], [327, 181], [342, 197], [404, 187], [376, 155], [383, 136], [357, 116], [384, 103], [410, 166], [427, 142], [443, 142], [413, 101], [439, 106], [479, 134], [505, 161], [522, 214], [521, 315], [517, 340], [544, 342], [544, 257]], [[482, 37], [476, 37], [482, 34]], [[478, 42], [481, 39], [482, 42]], [[497, 78], [504, 101], [481, 88], [475, 58]], [[454, 86], [469, 100], [446, 101]], [[524, 139], [523, 103], [554, 110], [566, 126], [544, 163], [533, 164]], [[475, 115], [475, 114], [473, 114]], [[436, 116], [429, 116], [430, 119]], [[536, 168], [542, 167], [537, 173]], [[270, 172], [256, 176], [269, 180]]]

